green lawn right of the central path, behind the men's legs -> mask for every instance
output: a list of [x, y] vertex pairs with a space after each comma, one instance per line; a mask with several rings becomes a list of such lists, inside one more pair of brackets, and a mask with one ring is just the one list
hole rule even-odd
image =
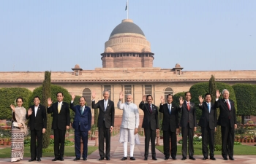
[[[156, 146], [156, 148], [164, 153], [163, 146]], [[247, 145], [234, 145], [234, 155], [255, 155], [256, 147]], [[181, 155], [181, 145], [177, 147], [177, 155]], [[202, 155], [202, 145], [194, 144], [194, 155]], [[222, 151], [215, 151], [214, 155], [222, 155]]]

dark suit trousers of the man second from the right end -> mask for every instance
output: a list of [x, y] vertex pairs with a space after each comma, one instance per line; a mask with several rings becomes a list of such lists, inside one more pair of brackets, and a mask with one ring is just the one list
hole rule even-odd
[[202, 151], [203, 157], [208, 158], [208, 144], [210, 149], [210, 157], [214, 157], [214, 131], [209, 128], [209, 123], [206, 127], [201, 127], [202, 130]]

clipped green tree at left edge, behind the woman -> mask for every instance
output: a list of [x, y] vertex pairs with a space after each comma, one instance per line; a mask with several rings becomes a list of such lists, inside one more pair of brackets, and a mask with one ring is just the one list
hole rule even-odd
[[12, 120], [10, 104], [16, 104], [16, 98], [23, 98], [24, 108], [29, 108], [31, 91], [23, 87], [4, 87], [0, 89], [0, 120]]

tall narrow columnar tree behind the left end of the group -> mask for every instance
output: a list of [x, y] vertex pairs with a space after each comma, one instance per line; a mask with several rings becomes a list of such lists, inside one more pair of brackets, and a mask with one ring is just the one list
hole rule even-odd
[[[45, 71], [45, 80], [42, 82], [42, 105], [48, 106], [48, 98], [50, 98], [50, 71]], [[47, 110], [47, 109], [46, 109]], [[46, 111], [47, 112], [47, 111]], [[45, 133], [42, 135], [42, 148], [48, 148], [50, 144], [50, 127], [51, 127], [52, 118], [50, 114], [47, 114], [47, 125]]]

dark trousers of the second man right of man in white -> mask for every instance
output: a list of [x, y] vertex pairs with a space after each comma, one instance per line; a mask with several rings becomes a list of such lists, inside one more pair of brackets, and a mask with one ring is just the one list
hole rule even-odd
[[171, 156], [176, 157], [177, 155], [177, 136], [176, 131], [172, 132], [169, 130], [163, 131], [164, 135], [164, 155], [170, 157], [170, 143], [171, 143]]

